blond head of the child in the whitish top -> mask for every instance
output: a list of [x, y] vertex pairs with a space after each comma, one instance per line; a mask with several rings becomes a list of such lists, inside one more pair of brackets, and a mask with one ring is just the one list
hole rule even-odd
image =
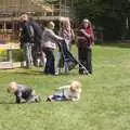
[[81, 87], [82, 87], [81, 82], [73, 81], [70, 83], [70, 91], [81, 93]]

